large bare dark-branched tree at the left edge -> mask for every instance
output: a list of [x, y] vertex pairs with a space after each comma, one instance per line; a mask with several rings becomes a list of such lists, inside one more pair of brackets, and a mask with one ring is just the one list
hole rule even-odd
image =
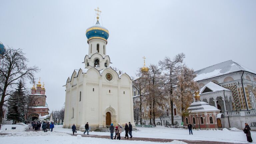
[[0, 64], [0, 83], [3, 83], [3, 93], [0, 101], [0, 123], [3, 118], [3, 104], [8, 101], [11, 94], [18, 85], [18, 80], [34, 81], [34, 74], [39, 70], [38, 67], [29, 67], [28, 59], [24, 56], [21, 49], [8, 47], [3, 55]]

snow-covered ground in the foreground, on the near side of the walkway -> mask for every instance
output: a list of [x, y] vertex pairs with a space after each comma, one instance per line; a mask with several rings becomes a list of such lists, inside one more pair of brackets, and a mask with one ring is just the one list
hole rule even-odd
[[[0, 141], [3, 144], [163, 144], [160, 142], [148, 142], [148, 141], [127, 141], [127, 140], [111, 140], [102, 138], [90, 138], [71, 136], [65, 133], [59, 132], [43, 132], [43, 131], [30, 131], [18, 134], [9, 134], [0, 136]], [[187, 144], [182, 141], [172, 141], [165, 144]]]

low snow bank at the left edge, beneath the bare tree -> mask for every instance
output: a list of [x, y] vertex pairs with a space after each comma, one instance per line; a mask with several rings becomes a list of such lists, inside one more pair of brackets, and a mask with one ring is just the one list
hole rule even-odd
[[[21, 133], [26, 130], [27, 126], [28, 125], [23, 123], [14, 125], [3, 125], [1, 127], [0, 133]], [[12, 129], [12, 127], [16, 127], [16, 129]]]

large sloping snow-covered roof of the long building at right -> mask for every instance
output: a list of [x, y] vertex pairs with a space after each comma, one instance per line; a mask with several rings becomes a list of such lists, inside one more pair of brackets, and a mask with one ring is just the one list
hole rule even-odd
[[250, 73], [256, 74], [255, 71], [250, 70], [232, 60], [224, 61], [222, 63], [218, 63], [200, 70], [195, 71], [195, 74], [197, 75], [195, 77], [196, 81], [220, 76], [220, 75], [225, 75], [237, 71], [248, 71]]

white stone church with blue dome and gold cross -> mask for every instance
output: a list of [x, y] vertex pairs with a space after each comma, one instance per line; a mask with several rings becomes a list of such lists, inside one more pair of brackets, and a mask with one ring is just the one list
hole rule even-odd
[[84, 66], [75, 69], [67, 79], [65, 118], [63, 128], [84, 130], [88, 122], [91, 130], [106, 128], [111, 123], [134, 124], [132, 103], [132, 80], [126, 73], [110, 67], [106, 53], [109, 31], [97, 22], [86, 30], [88, 55]]

